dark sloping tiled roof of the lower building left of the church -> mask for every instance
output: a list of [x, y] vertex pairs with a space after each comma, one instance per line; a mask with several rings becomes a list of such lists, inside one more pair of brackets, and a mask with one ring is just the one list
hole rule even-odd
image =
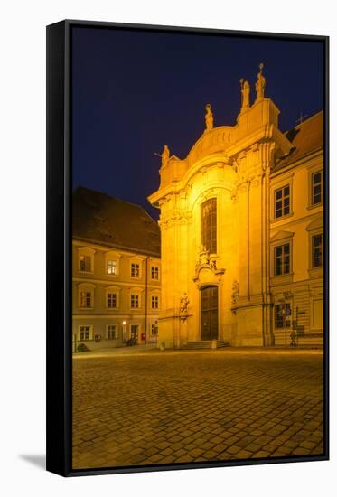
[[158, 223], [143, 207], [88, 188], [72, 193], [72, 236], [160, 257]]

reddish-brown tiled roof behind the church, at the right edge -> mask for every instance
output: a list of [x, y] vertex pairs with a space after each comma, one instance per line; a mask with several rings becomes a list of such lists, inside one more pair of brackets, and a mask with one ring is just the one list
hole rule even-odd
[[289, 155], [276, 163], [274, 171], [293, 164], [304, 155], [312, 154], [323, 148], [323, 110], [287, 131], [285, 136], [294, 145], [294, 148]]

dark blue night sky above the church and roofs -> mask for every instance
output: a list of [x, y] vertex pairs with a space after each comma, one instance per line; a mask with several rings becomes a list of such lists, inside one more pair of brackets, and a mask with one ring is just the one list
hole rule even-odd
[[139, 203], [157, 218], [146, 201], [159, 184], [154, 152], [167, 144], [187, 155], [208, 102], [214, 126], [234, 125], [239, 79], [253, 101], [260, 61], [283, 131], [323, 108], [321, 42], [73, 28], [73, 187]]

